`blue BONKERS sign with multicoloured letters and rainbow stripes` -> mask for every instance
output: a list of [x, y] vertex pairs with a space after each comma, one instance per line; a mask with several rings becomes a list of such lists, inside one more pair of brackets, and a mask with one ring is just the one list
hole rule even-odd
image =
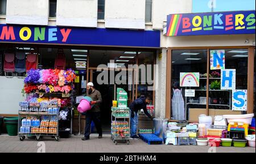
[[166, 36], [254, 33], [255, 10], [167, 15]]

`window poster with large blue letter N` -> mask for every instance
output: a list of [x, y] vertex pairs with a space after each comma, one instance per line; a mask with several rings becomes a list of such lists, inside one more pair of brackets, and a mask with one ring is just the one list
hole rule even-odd
[[225, 50], [210, 50], [210, 70], [225, 69]]

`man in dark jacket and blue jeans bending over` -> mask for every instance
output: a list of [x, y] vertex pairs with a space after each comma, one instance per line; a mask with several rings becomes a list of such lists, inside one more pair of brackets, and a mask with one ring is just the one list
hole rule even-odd
[[131, 113], [131, 139], [139, 139], [136, 135], [137, 133], [137, 124], [138, 124], [138, 111], [143, 109], [144, 113], [150, 118], [153, 119], [152, 116], [147, 112], [147, 104], [151, 101], [150, 97], [139, 97], [133, 102], [130, 103], [130, 113]]

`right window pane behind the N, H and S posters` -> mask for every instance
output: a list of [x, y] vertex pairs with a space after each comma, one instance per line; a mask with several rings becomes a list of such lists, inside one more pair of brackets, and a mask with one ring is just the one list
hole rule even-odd
[[[215, 51], [215, 50], [210, 50]], [[217, 50], [218, 51], [218, 50]], [[225, 55], [225, 69], [236, 70], [236, 89], [247, 89], [247, 49], [221, 50]], [[209, 70], [209, 109], [232, 110], [232, 90], [221, 89], [221, 70]]]

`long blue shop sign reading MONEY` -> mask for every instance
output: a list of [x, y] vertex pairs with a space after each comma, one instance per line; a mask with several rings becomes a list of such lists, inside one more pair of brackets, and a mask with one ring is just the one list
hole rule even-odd
[[160, 47], [160, 31], [0, 24], [0, 42]]

